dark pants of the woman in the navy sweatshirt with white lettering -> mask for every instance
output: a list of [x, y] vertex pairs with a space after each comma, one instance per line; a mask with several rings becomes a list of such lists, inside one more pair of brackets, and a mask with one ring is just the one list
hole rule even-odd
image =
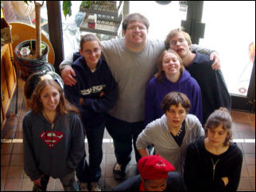
[[76, 167], [76, 177], [80, 182], [99, 182], [101, 177], [100, 163], [103, 160], [104, 129], [104, 124], [86, 128], [89, 164], [84, 156], [83, 160]]

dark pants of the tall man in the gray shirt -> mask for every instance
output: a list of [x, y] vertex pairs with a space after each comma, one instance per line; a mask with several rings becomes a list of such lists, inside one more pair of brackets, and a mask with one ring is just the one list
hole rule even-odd
[[144, 121], [129, 123], [107, 114], [106, 128], [114, 140], [114, 154], [118, 164], [126, 166], [130, 162], [133, 144], [138, 162], [141, 156], [136, 148], [136, 140], [144, 129]]

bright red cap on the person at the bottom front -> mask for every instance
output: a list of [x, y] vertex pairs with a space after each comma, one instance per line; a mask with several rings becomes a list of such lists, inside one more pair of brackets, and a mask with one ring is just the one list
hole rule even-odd
[[158, 154], [155, 156], [144, 156], [139, 159], [138, 171], [142, 175], [142, 179], [165, 179], [168, 177], [169, 171], [175, 168], [169, 161], [165, 160]]

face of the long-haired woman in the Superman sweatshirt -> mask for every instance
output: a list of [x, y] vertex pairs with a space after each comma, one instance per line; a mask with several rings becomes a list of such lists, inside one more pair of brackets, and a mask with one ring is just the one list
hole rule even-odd
[[59, 105], [60, 93], [54, 86], [47, 85], [41, 91], [40, 98], [45, 112], [53, 112]]

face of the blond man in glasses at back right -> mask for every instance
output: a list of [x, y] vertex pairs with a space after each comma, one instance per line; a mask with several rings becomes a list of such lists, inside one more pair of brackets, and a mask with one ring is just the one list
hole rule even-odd
[[178, 53], [181, 59], [183, 59], [184, 56], [187, 56], [190, 52], [190, 45], [188, 44], [188, 41], [185, 40], [182, 33], [176, 33], [176, 35], [169, 40], [169, 45], [170, 48]]

